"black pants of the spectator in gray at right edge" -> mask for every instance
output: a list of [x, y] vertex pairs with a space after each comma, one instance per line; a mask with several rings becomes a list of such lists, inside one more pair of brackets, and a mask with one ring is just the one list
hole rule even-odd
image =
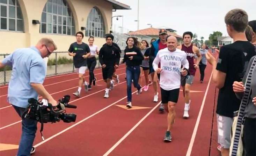
[[244, 156], [256, 155], [256, 118], [246, 118], [243, 128], [243, 153]]

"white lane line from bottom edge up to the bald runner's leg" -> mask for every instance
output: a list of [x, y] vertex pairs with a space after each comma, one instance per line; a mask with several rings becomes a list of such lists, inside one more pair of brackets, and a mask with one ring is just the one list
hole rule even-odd
[[161, 101], [154, 107], [152, 108], [136, 125], [133, 126], [133, 128], [130, 129], [130, 131], [128, 131], [120, 140], [118, 140], [116, 142], [116, 144], [114, 146], [112, 146], [103, 156], [107, 156], [109, 155], [127, 136], [129, 136], [129, 134], [131, 134], [131, 132], [133, 130], [135, 130], [142, 121], [144, 121], [148, 115], [150, 115], [159, 105], [161, 104]]

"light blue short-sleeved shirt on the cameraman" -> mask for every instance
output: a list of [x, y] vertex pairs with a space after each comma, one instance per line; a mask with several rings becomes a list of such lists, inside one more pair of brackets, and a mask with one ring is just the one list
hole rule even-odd
[[30, 83], [43, 84], [46, 75], [46, 65], [39, 50], [36, 47], [17, 49], [2, 63], [13, 67], [8, 102], [26, 108], [29, 98], [38, 99], [38, 93]]

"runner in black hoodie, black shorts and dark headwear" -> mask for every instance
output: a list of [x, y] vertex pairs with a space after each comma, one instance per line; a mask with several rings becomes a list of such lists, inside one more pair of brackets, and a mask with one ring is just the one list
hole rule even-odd
[[109, 90], [114, 89], [112, 75], [114, 69], [118, 68], [120, 61], [120, 49], [113, 45], [113, 35], [106, 36], [107, 44], [100, 49], [99, 60], [102, 66], [103, 80], [107, 83], [104, 98], [109, 97]]

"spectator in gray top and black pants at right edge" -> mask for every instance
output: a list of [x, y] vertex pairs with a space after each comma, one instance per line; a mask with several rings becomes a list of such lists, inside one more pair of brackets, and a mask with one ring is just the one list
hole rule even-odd
[[[236, 93], [237, 98], [242, 99], [245, 91], [244, 84], [248, 77], [248, 73], [252, 64], [256, 63], [255, 56], [251, 58], [246, 74], [243, 77], [242, 82], [235, 81], [233, 84], [233, 90]], [[244, 111], [245, 121], [243, 128], [243, 150], [246, 156], [256, 155], [256, 67], [254, 67], [251, 77], [251, 94], [248, 104]]]

